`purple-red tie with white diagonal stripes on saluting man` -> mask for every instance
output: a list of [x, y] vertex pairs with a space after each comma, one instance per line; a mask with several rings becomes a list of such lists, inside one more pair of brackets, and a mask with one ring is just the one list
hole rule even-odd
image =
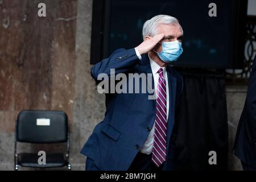
[[159, 80], [156, 90], [156, 117], [152, 161], [159, 167], [166, 161], [167, 109], [166, 80], [163, 76], [162, 68], [158, 70], [158, 74]]

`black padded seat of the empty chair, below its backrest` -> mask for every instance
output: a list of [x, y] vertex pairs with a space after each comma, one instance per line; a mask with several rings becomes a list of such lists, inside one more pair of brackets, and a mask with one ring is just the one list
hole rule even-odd
[[20, 153], [18, 154], [17, 163], [22, 167], [38, 167], [38, 168], [50, 168], [50, 167], [63, 167], [68, 165], [68, 160], [65, 159], [65, 155], [62, 153], [46, 154], [46, 164], [38, 164], [38, 154]]

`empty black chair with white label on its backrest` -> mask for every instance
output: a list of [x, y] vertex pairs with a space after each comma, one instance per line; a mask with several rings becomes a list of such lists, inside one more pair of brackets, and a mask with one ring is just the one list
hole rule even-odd
[[[18, 153], [17, 142], [23, 143], [67, 143], [64, 153], [46, 152], [46, 163], [39, 163], [39, 153]], [[63, 111], [23, 110], [16, 120], [14, 169], [18, 166], [35, 168], [53, 168], [69, 164], [69, 132], [68, 117]]]

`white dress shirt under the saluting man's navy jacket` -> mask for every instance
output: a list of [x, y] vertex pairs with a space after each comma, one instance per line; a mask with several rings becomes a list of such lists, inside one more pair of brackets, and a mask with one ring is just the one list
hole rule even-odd
[[[135, 52], [136, 55], [138, 56], [138, 58], [141, 60], [142, 57], [139, 54], [139, 51], [135, 48]], [[155, 85], [155, 92], [156, 92], [156, 88], [158, 86], [158, 79], [159, 79], [159, 74], [157, 73], [158, 70], [160, 68], [163, 69], [163, 75], [164, 78], [166, 79], [166, 109], [167, 109], [167, 121], [168, 121], [168, 114], [169, 114], [169, 88], [168, 88], [168, 77], [167, 77], [167, 71], [166, 71], [166, 67], [160, 67], [157, 63], [155, 63], [155, 61], [153, 61], [150, 56], [148, 56], [148, 58], [150, 59], [150, 66], [151, 66], [151, 70], [152, 70], [152, 74], [154, 77], [154, 85]], [[142, 152], [143, 154], [151, 154], [152, 152], [152, 148], [153, 148], [153, 143], [154, 143], [154, 133], [155, 133], [155, 123], [154, 126], [152, 127], [150, 134], [147, 137], [146, 142], [144, 143], [144, 145], [142, 146], [141, 150], [139, 150], [140, 152]]]

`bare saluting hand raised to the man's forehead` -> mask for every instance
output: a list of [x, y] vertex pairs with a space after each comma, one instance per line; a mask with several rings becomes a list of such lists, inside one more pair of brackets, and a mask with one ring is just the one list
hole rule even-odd
[[158, 34], [153, 36], [152, 38], [149, 38], [147, 40], [144, 40], [139, 46], [135, 47], [141, 55], [144, 53], [147, 53], [152, 50], [156, 46], [157, 43], [160, 42], [164, 38], [164, 34]]

